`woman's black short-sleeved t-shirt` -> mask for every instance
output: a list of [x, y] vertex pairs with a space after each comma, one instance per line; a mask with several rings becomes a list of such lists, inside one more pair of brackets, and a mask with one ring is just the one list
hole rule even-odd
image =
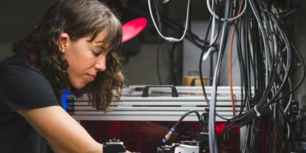
[[[18, 110], [59, 106], [54, 90], [22, 54], [0, 63], [0, 152], [53, 152]], [[47, 122], [47, 120], [45, 121]]]

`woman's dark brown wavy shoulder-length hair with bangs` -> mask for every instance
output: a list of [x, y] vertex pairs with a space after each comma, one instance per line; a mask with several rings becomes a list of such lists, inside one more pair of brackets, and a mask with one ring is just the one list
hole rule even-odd
[[[107, 68], [97, 73], [94, 82], [81, 90], [75, 89], [68, 80], [69, 65], [61, 52], [59, 36], [67, 33], [72, 41], [90, 36], [93, 41], [101, 32], [107, 32], [103, 42], [111, 50]], [[105, 4], [96, 0], [62, 0], [46, 10], [29, 37], [13, 43], [13, 51], [36, 57], [35, 66], [49, 80], [59, 101], [68, 89], [77, 97], [88, 94], [93, 107], [106, 110], [111, 101], [119, 100], [123, 87], [118, 52], [121, 40], [121, 22]]]

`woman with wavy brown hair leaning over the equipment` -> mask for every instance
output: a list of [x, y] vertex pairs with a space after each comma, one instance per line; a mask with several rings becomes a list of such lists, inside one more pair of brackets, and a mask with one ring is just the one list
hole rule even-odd
[[65, 89], [105, 110], [123, 85], [121, 23], [95, 0], [47, 9], [28, 38], [0, 63], [0, 152], [103, 152], [60, 106]]

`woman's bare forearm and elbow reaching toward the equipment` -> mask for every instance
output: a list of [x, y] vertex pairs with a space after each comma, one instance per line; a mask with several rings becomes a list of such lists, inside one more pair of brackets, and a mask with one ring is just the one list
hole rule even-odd
[[52, 149], [65, 153], [101, 153], [97, 143], [86, 130], [60, 106], [17, 111], [43, 136]]

